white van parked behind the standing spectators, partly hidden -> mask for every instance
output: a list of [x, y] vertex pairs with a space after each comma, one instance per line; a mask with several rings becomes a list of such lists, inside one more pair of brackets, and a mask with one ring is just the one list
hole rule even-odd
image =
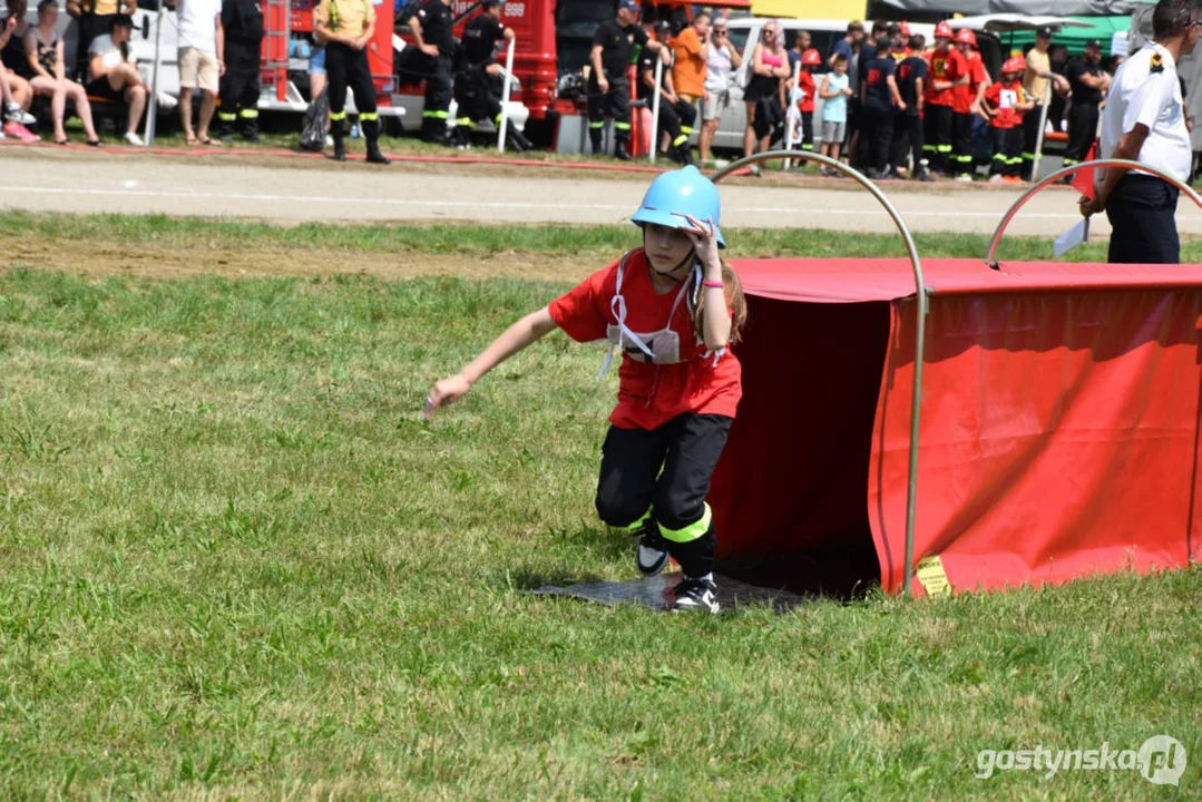
[[[731, 46], [739, 48], [743, 55], [743, 65], [731, 76], [731, 106], [722, 112], [718, 131], [714, 133], [715, 148], [743, 149], [743, 132], [746, 130], [748, 115], [743, 103], [743, 85], [746, 81], [748, 70], [751, 69], [751, 55], [755, 53], [755, 43], [760, 41], [760, 31], [764, 23], [773, 22], [764, 17], [743, 17], [730, 20]], [[827, 57], [834, 49], [835, 42], [847, 35], [850, 20], [838, 19], [779, 19], [776, 20], [785, 29], [785, 48], [792, 49], [797, 42], [797, 31], [809, 31], [810, 47], [822, 57], [822, 66], [815, 71], [815, 81], [821, 85], [821, 76], [827, 72]], [[871, 22], [868, 23], [871, 26]], [[935, 26], [922, 23], [910, 23], [912, 34], [922, 34], [927, 41], [932, 41]], [[821, 138], [822, 125], [817, 120], [822, 119], [822, 99], [817, 99], [814, 108], [814, 141], [815, 145]]]

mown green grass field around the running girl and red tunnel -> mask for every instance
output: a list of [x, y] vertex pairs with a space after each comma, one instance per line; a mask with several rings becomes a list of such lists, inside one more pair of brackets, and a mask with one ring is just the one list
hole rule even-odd
[[[379, 231], [0, 218], [6, 245], [121, 239], [168, 259], [254, 232], [319, 255], [237, 280], [2, 262], [0, 798], [1197, 797], [1196, 569], [716, 618], [525, 593], [635, 576], [591, 507], [614, 374], [597, 388], [600, 352], [554, 334], [435, 421], [422, 400], [567, 286], [469, 257], [579, 271], [631, 232]], [[477, 267], [321, 269], [379, 251]], [[1191, 756], [1179, 789], [975, 776], [982, 749], [1158, 733]]]

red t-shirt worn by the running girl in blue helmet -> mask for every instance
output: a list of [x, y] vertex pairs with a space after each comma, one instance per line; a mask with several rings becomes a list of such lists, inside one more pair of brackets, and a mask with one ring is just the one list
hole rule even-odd
[[[680, 358], [677, 364], [647, 364], [623, 355], [618, 369], [618, 406], [609, 422], [623, 429], [656, 429], [672, 418], [695, 412], [734, 417], [743, 397], [743, 368], [727, 350], [718, 364], [697, 344], [697, 334], [689, 317], [685, 301], [677, 307], [668, 326], [668, 315], [676, 303], [676, 287], [659, 295], [648, 274], [650, 268], [642, 249], [626, 260], [621, 295], [626, 299], [626, 326], [637, 333], [671, 328], [680, 338]], [[575, 290], [551, 303], [551, 317], [578, 343], [603, 340], [607, 328], [618, 320], [611, 302], [618, 287], [618, 262], [597, 271]]]

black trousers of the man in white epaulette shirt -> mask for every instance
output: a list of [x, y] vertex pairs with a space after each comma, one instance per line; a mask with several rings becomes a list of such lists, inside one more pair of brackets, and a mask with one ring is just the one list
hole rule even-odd
[[1106, 201], [1113, 228], [1112, 265], [1179, 265], [1177, 197], [1180, 192], [1153, 176], [1124, 176]]

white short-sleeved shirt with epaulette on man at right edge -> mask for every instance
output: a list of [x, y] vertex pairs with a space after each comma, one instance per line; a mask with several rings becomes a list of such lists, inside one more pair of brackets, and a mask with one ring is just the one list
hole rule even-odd
[[1123, 135], [1138, 124], [1148, 127], [1148, 138], [1137, 160], [1189, 180], [1194, 154], [1185, 129], [1182, 84], [1172, 54], [1155, 42], [1119, 65], [1114, 73], [1102, 112], [1102, 159], [1109, 159]]

